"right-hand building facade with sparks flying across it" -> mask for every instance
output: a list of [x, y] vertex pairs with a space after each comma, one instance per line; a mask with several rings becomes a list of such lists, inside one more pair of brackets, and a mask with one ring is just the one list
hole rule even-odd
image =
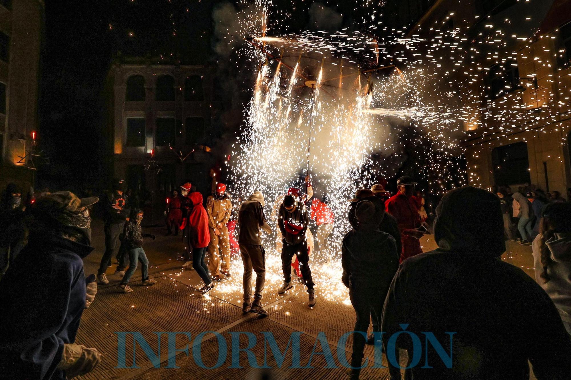
[[[571, 187], [571, 1], [404, 0], [391, 9], [401, 12], [392, 28], [408, 28], [409, 35], [458, 27], [475, 36], [472, 45], [464, 43], [478, 54], [457, 70], [457, 77], [470, 77], [461, 91], [478, 94], [461, 138], [469, 184], [513, 191], [535, 185], [565, 196]], [[512, 45], [476, 45], [488, 31], [504, 35], [496, 44]], [[517, 38], [530, 31], [532, 38]]]

